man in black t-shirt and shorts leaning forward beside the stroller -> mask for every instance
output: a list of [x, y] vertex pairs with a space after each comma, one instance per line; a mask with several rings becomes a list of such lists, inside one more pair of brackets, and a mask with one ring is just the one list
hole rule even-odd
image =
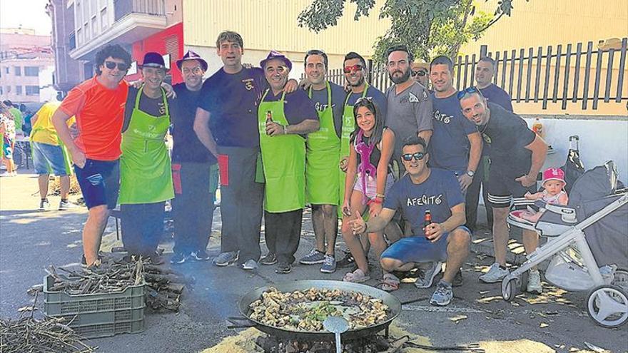
[[[495, 263], [480, 276], [482, 282], [494, 283], [508, 275], [506, 252], [510, 205], [520, 207], [528, 192], [537, 192], [537, 174], [545, 162], [547, 144], [527, 127], [525, 121], [494, 103], [487, 103], [479, 89], [467, 88], [460, 92], [462, 114], [475, 123], [489, 146], [491, 159], [487, 183], [487, 203], [493, 209], [493, 246]], [[539, 245], [539, 236], [531, 230], [523, 230], [523, 246], [527, 254]], [[531, 270], [527, 283], [528, 292], [542, 292], [538, 270]]]

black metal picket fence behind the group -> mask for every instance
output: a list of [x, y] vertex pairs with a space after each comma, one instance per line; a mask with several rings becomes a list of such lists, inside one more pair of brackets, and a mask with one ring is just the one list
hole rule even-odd
[[[582, 102], [582, 110], [596, 110], [599, 102], [621, 103], [628, 101], [628, 88], [624, 87], [628, 39], [619, 48], [595, 48], [592, 41], [584, 48], [582, 43], [567, 46], [539, 46], [510, 51], [488, 51], [482, 46], [480, 53], [458, 56], [454, 63], [454, 85], [458, 89], [475, 84], [475, 66], [482, 56], [496, 61], [493, 82], [507, 91], [516, 103]], [[392, 82], [385, 65], [368, 61], [367, 75], [373, 86], [384, 91]], [[330, 70], [330, 81], [344, 83], [342, 69]]]

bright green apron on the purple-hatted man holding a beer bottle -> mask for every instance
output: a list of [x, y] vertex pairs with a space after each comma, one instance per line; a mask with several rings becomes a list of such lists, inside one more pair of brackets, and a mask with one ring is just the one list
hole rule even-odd
[[288, 125], [283, 113], [283, 98], [265, 102], [264, 92], [258, 107], [258, 126], [264, 177], [266, 179], [264, 210], [282, 213], [305, 207], [305, 139], [300, 135], [266, 135], [266, 111], [273, 121]]

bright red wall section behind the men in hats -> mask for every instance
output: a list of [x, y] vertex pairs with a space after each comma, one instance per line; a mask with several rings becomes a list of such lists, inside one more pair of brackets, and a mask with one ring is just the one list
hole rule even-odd
[[[169, 51], [168, 49], [166, 49], [167, 41], [168, 43], [170, 43]], [[153, 34], [152, 36], [146, 37], [146, 39], [133, 43], [133, 47], [131, 48], [131, 55], [133, 56], [133, 60], [141, 63], [144, 58], [144, 54], [148, 51], [155, 51], [162, 55], [170, 53], [171, 63], [170, 71], [168, 71], [168, 73], [172, 76], [172, 83], [175, 84], [183, 82], [181, 71], [179, 71], [178, 67], [176, 67], [176, 61], [183, 57], [182, 22], [170, 26], [161, 32]], [[140, 78], [140, 74], [136, 73], [135, 75], [129, 75], [127, 76], [127, 78], [129, 81], [133, 81]]]

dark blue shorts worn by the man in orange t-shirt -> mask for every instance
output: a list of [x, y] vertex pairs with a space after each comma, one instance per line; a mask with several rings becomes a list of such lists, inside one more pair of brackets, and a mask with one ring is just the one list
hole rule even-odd
[[116, 208], [120, 189], [118, 160], [88, 159], [83, 168], [75, 164], [74, 171], [88, 209], [100, 205], [107, 205], [109, 210]]

